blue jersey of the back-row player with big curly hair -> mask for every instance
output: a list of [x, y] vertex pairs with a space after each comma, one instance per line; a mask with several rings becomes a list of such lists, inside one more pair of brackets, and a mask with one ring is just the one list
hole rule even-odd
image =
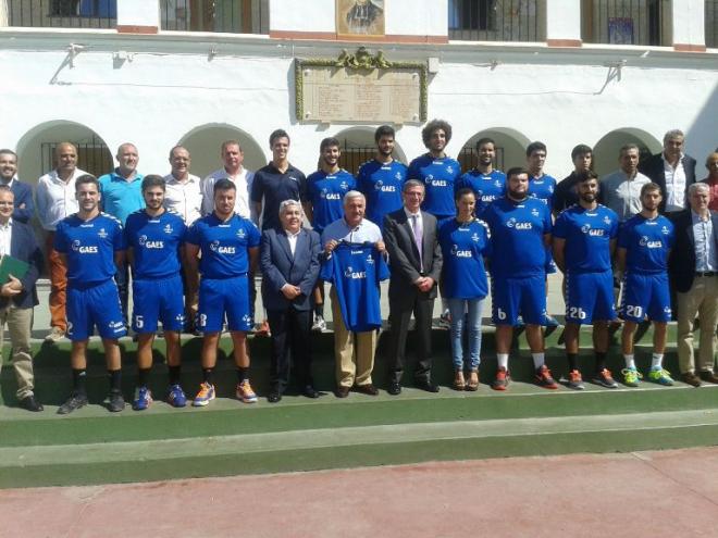
[[434, 159], [429, 153], [418, 157], [409, 164], [409, 179], [419, 179], [426, 188], [421, 209], [436, 218], [456, 214], [454, 187], [461, 175], [461, 165], [456, 159]]

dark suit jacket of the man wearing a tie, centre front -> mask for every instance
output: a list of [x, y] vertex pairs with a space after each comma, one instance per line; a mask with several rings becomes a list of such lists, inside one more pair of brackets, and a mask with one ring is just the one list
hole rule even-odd
[[[413, 284], [420, 276], [431, 276], [435, 283], [442, 274], [442, 248], [438, 245], [436, 217], [421, 212], [423, 221], [423, 273], [419, 273], [419, 249], [413, 239], [413, 232], [404, 208], [384, 217], [384, 242], [389, 254], [389, 301], [413, 302], [413, 293], [419, 288]], [[436, 286], [428, 293], [429, 299], [436, 297]]]

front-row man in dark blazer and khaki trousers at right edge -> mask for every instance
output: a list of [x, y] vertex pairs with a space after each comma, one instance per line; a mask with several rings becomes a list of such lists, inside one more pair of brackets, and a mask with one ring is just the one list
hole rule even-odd
[[[718, 383], [715, 371], [718, 325], [718, 213], [708, 209], [709, 189], [704, 183], [689, 187], [690, 209], [674, 220], [676, 242], [668, 273], [677, 291], [678, 362], [681, 379], [700, 387]], [[693, 350], [693, 323], [698, 314], [701, 342], [698, 373]]]

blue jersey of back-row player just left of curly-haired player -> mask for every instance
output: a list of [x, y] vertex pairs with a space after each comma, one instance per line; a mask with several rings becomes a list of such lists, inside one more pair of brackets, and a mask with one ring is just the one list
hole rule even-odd
[[399, 161], [367, 161], [359, 168], [357, 187], [367, 198], [367, 218], [380, 228], [384, 227], [385, 215], [404, 207], [401, 189], [407, 173], [406, 164]]

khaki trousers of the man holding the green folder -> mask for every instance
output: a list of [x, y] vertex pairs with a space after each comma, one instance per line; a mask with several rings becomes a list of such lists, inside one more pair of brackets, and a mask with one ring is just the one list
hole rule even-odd
[[[4, 343], [4, 328], [8, 324], [10, 343], [12, 346], [12, 365], [17, 378], [17, 399], [33, 395], [35, 376], [33, 374], [33, 356], [30, 355], [30, 327], [33, 326], [33, 309], [18, 309], [8, 305], [0, 310], [0, 350]], [[2, 360], [0, 360], [2, 367]]]

